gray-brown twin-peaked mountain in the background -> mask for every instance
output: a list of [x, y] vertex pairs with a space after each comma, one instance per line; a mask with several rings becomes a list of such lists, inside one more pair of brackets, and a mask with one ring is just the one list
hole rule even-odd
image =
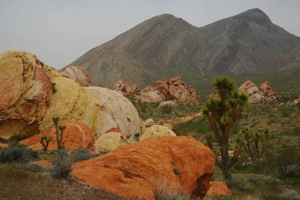
[[[300, 37], [273, 24], [260, 9], [195, 27], [171, 14], [154, 16], [69, 64], [93, 85], [118, 79], [142, 88], [179, 75], [194, 86], [215, 74], [244, 75], [300, 66]], [[198, 91], [197, 91], [198, 92]]]

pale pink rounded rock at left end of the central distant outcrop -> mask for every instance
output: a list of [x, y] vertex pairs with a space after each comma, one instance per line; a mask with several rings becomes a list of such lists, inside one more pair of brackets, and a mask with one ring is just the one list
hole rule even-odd
[[165, 96], [155, 87], [148, 86], [140, 91], [140, 95], [138, 98], [141, 102], [156, 103], [163, 101]]

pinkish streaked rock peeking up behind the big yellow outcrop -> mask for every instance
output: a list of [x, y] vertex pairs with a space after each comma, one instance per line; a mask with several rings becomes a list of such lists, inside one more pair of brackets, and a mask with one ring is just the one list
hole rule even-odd
[[62, 77], [70, 78], [79, 83], [82, 87], [91, 86], [90, 78], [80, 66], [69, 66], [60, 72]]

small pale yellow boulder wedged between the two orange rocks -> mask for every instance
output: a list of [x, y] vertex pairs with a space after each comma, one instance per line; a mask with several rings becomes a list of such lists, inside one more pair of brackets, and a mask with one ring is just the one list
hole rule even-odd
[[103, 152], [105, 150], [114, 150], [119, 146], [129, 144], [130, 141], [127, 140], [121, 133], [109, 132], [101, 135], [96, 139], [95, 148], [97, 152]]

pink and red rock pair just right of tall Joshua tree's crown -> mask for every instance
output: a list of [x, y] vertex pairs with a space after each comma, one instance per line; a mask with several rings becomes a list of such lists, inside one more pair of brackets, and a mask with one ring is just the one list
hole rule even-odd
[[250, 103], [263, 101], [263, 94], [267, 94], [266, 101], [276, 101], [276, 93], [270, 88], [268, 81], [261, 83], [259, 88], [251, 81], [244, 82], [238, 89], [238, 92], [245, 92], [249, 98]]

